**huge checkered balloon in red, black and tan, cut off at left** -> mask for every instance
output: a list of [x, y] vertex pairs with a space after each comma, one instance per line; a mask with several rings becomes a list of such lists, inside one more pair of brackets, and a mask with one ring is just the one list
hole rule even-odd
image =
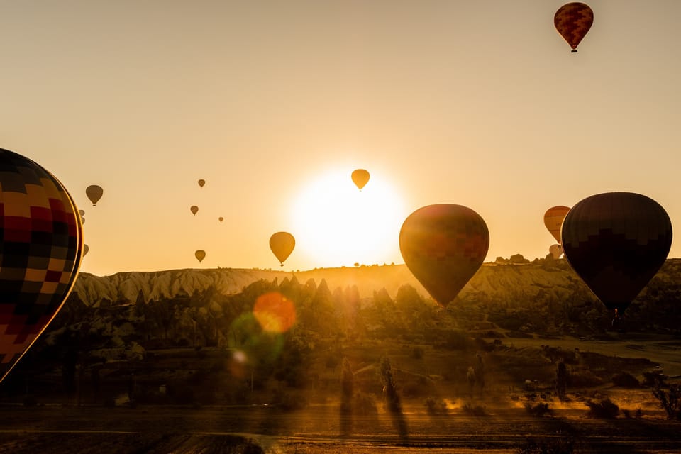
[[82, 226], [65, 187], [0, 148], [0, 381], [66, 301], [82, 259]]

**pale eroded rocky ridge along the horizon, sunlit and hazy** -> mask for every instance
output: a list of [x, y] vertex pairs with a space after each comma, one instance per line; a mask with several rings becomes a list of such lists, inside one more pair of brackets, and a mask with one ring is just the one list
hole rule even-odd
[[[165, 270], [157, 272], [121, 272], [99, 277], [81, 273], [73, 294], [87, 306], [149, 303], [175, 297], [189, 297], [213, 288], [218, 294], [241, 292], [248, 284], [261, 279], [279, 282], [295, 277], [298, 282], [326, 280], [329, 288], [358, 288], [360, 297], [371, 297], [385, 289], [391, 297], [403, 284], [416, 288], [423, 297], [425, 289], [411, 275], [406, 265], [373, 265], [361, 267], [320, 268], [304, 272], [258, 269], [218, 268], [213, 270]], [[524, 299], [537, 296], [562, 299], [580, 280], [564, 260], [544, 260], [526, 264], [485, 263], [460, 293], [460, 298], [484, 297], [506, 300], [512, 296]]]

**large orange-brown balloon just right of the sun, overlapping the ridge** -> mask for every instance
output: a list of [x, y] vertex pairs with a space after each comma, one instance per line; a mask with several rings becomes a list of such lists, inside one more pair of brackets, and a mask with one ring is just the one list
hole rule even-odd
[[443, 307], [475, 275], [488, 248], [487, 224], [461, 205], [423, 206], [406, 218], [399, 231], [404, 263]]

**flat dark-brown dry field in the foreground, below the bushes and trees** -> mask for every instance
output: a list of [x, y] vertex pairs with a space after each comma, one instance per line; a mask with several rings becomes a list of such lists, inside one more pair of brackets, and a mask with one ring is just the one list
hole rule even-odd
[[414, 409], [405, 411], [402, 436], [383, 410], [341, 421], [332, 405], [292, 413], [262, 406], [4, 406], [0, 421], [2, 453], [516, 453], [528, 438], [572, 443], [575, 453], [681, 452], [681, 423], [648, 410], [642, 419], [604, 420], [575, 408], [544, 417], [519, 408], [436, 417]]

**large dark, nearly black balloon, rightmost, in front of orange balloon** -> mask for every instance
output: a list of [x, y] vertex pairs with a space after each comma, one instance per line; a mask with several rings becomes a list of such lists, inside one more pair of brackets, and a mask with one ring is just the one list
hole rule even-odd
[[672, 223], [658, 202], [631, 192], [587, 197], [565, 216], [567, 262], [608, 309], [626, 309], [664, 264]]

